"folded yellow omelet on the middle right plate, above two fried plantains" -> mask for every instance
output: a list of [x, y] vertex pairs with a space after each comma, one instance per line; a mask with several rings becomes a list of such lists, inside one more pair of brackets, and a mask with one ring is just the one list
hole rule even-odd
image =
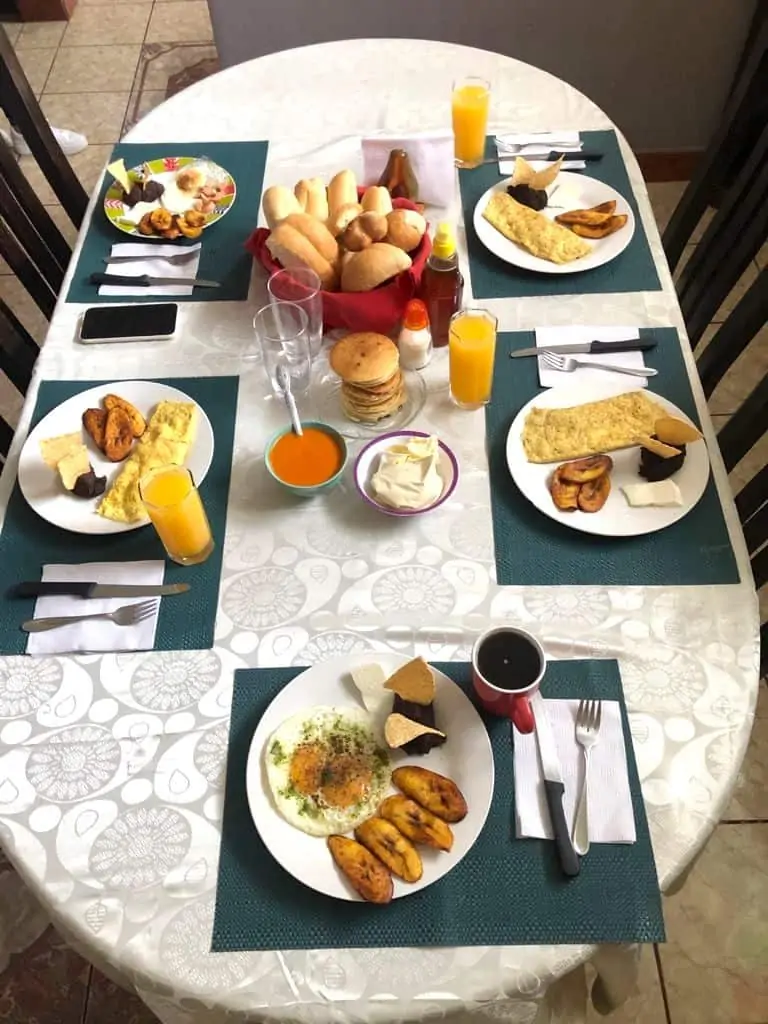
[[653, 433], [665, 410], [644, 391], [628, 391], [612, 398], [568, 409], [535, 407], [525, 417], [522, 446], [528, 462], [561, 462], [638, 443]]

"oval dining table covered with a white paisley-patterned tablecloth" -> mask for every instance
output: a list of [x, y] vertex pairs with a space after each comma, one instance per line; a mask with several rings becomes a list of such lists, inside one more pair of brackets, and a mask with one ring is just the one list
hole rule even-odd
[[[265, 185], [344, 167], [359, 172], [360, 135], [450, 128], [452, 82], [465, 75], [492, 83], [492, 131], [612, 127], [577, 89], [518, 60], [439, 42], [364, 39], [222, 71], [152, 111], [127, 141], [172, 153], [193, 151], [203, 139], [268, 139]], [[238, 668], [384, 650], [392, 646], [388, 630], [397, 614], [402, 626], [439, 614], [461, 634], [441, 639], [415, 630], [403, 638], [400, 631], [398, 650], [466, 659], [472, 629], [514, 621], [539, 637], [548, 657], [618, 659], [664, 891], [680, 884], [726, 807], [757, 699], [757, 600], [645, 184], [617, 135], [662, 289], [483, 304], [502, 331], [573, 323], [678, 329], [736, 553], [737, 585], [497, 586], [482, 413], [441, 412], [444, 354], [426, 375], [427, 403], [415, 425], [439, 431], [462, 458], [462, 486], [445, 528], [435, 526], [427, 537], [415, 527], [396, 535], [382, 527], [360, 545], [359, 532], [347, 534], [347, 524], [332, 522], [323, 506], [286, 517], [256, 486], [264, 440], [280, 414], [265, 397], [260, 368], [244, 358], [253, 351], [251, 323], [264, 301], [263, 274], [254, 274], [247, 302], [182, 303], [178, 337], [165, 345], [78, 345], [83, 306], [66, 302], [65, 286], [0, 508], [40, 380], [242, 375], [213, 649], [0, 660], [2, 843], [65, 938], [135, 990], [165, 1024], [541, 1022], [566, 1019], [565, 1005], [567, 1019], [577, 1021], [585, 1010], [587, 961], [598, 971], [593, 998], [603, 1011], [621, 1004], [634, 979], [632, 946], [211, 953], [228, 702]], [[447, 215], [459, 224], [464, 260], [458, 200]], [[93, 203], [90, 216], [102, 216]], [[479, 439], [474, 446], [466, 440], [472, 431]], [[354, 514], [350, 507], [350, 521]], [[463, 574], [452, 581], [457, 560]], [[238, 593], [247, 613], [236, 610], [233, 581], [243, 584]], [[352, 625], [349, 609], [360, 602], [372, 609], [371, 621]], [[142, 714], [155, 726], [140, 755], [133, 752], [142, 759], [140, 777], [126, 782], [121, 760], [132, 756], [126, 737]], [[65, 727], [69, 745], [54, 741]], [[102, 749], [84, 745], [94, 730], [123, 738]], [[38, 762], [46, 760], [46, 772], [26, 772], [32, 752]], [[103, 763], [93, 762], [98, 757]], [[94, 781], [95, 772], [101, 781]], [[108, 828], [93, 827], [88, 816], [95, 790], [109, 812]], [[104, 853], [105, 843], [109, 857], [94, 858], [94, 844]]]

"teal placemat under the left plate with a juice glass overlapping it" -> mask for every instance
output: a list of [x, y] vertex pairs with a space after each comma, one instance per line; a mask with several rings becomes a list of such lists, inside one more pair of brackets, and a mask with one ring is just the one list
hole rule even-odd
[[[52, 409], [88, 388], [109, 381], [43, 381], [32, 417], [34, 427]], [[201, 650], [213, 646], [221, 559], [229, 496], [229, 473], [238, 408], [237, 377], [174, 377], [158, 381], [188, 394], [211, 421], [215, 438], [213, 462], [200, 486], [216, 547], [202, 565], [177, 565], [166, 559], [165, 583], [188, 583], [190, 590], [160, 602], [156, 650]], [[153, 526], [129, 534], [91, 537], [52, 526], [31, 511], [18, 483], [8, 502], [0, 534], [0, 565], [3, 567], [0, 596], [0, 653], [24, 654], [27, 635], [18, 624], [32, 618], [34, 598], [8, 598], [7, 588], [22, 580], [39, 580], [43, 565], [80, 562], [131, 562], [142, 558], [165, 558], [163, 545]]]

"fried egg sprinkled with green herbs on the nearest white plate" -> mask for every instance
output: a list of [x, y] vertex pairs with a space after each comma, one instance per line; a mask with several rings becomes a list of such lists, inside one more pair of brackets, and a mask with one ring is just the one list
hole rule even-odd
[[389, 784], [389, 756], [357, 708], [309, 708], [287, 719], [267, 740], [264, 763], [278, 812], [309, 836], [350, 831]]

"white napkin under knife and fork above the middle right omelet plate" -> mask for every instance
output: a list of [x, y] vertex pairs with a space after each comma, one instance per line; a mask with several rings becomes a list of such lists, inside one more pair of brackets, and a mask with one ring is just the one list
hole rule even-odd
[[[639, 338], [636, 327], [538, 327], [536, 329], [537, 346], [575, 345], [585, 341], [625, 341], [629, 338]], [[574, 352], [578, 359], [586, 362], [612, 362], [616, 367], [628, 367], [642, 370], [645, 367], [643, 352]], [[551, 370], [541, 356], [539, 364], [539, 382], [542, 387], [558, 387], [561, 384], [581, 386], [582, 384], [625, 384], [627, 388], [646, 387], [646, 377], [634, 377], [629, 374], [616, 374], [610, 370], [589, 370], [587, 367], [577, 367], [569, 374], [564, 370]]]

